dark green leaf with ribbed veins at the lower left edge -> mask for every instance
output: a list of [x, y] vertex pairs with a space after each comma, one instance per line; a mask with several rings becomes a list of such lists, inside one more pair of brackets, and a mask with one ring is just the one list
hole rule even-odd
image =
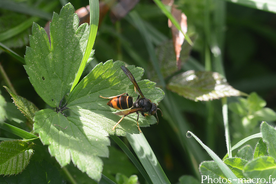
[[33, 150], [21, 140], [0, 143], [0, 174], [12, 175], [22, 172], [27, 167]]

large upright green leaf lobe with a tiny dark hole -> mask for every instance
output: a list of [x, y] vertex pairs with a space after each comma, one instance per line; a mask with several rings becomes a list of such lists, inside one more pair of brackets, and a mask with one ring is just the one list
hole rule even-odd
[[79, 18], [70, 3], [53, 15], [51, 46], [45, 30], [33, 24], [24, 67], [36, 92], [52, 107], [70, 91], [86, 48], [88, 24], [78, 26]]

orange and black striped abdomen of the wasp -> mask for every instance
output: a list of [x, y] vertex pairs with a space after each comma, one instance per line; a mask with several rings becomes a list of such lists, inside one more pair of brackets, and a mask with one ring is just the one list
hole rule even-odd
[[114, 109], [129, 109], [133, 105], [133, 98], [130, 96], [118, 96], [114, 97], [107, 103]]

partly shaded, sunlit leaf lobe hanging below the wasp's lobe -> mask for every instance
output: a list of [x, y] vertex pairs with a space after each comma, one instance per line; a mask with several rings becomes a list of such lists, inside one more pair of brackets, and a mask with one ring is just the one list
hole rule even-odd
[[100, 180], [103, 163], [110, 142], [108, 133], [89, 117], [69, 116], [52, 109], [36, 112], [34, 131], [63, 167], [72, 162], [91, 178]]

